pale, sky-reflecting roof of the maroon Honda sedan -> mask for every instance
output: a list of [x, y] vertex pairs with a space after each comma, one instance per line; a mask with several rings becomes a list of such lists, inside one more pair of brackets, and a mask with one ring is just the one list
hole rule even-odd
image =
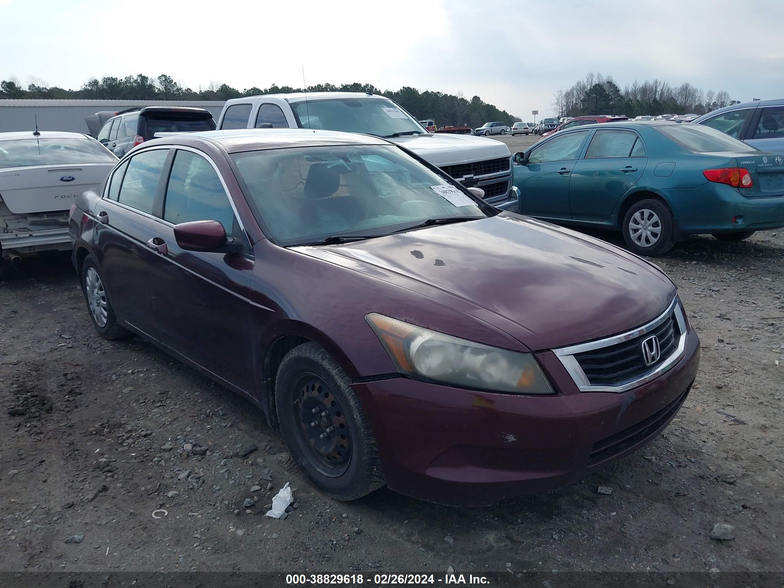
[[[286, 147], [327, 147], [329, 145], [391, 145], [381, 137], [356, 132], [321, 131], [312, 129], [227, 129], [221, 131], [187, 132], [154, 140], [155, 144], [176, 144], [187, 140], [206, 140], [227, 153], [284, 149]], [[153, 142], [148, 142], [152, 144]]]

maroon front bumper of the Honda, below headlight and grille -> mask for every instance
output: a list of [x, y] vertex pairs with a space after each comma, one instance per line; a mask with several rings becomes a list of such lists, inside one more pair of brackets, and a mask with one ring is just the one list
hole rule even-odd
[[387, 485], [434, 503], [485, 506], [545, 492], [626, 456], [681, 407], [697, 374], [699, 338], [690, 329], [669, 372], [622, 394], [580, 393], [552, 352], [537, 357], [559, 394], [522, 397], [403, 378], [354, 384]]

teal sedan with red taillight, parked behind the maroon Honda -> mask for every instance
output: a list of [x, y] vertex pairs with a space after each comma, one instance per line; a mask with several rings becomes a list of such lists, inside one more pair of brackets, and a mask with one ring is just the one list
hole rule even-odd
[[519, 212], [621, 230], [660, 255], [690, 234], [741, 241], [784, 227], [784, 151], [759, 151], [704, 125], [605, 122], [514, 155]]

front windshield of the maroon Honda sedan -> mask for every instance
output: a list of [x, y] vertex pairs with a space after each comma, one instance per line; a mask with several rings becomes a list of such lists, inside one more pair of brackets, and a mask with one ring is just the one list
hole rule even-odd
[[433, 218], [484, 218], [477, 202], [397, 147], [349, 145], [235, 153], [267, 236], [303, 245], [379, 235]]

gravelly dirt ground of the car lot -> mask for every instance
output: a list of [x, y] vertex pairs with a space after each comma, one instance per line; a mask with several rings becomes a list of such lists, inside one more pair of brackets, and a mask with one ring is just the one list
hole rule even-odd
[[[688, 572], [761, 585], [767, 576], [750, 574], [784, 568], [784, 234], [693, 238], [656, 263], [677, 281], [702, 338], [680, 414], [615, 466], [471, 510], [387, 489], [354, 503], [325, 498], [291, 469], [249, 403], [140, 339], [100, 339], [67, 256], [27, 260], [0, 287], [0, 572], [101, 572], [84, 586], [176, 571], [416, 572], [440, 583], [452, 566], [546, 588], [586, 585], [583, 572], [651, 572], [657, 586], [698, 585]], [[285, 482], [296, 510], [264, 517]], [[168, 514], [154, 518], [160, 508]], [[720, 522], [734, 539], [710, 538]], [[74, 535], [83, 541], [67, 543]], [[44, 577], [82, 586], [68, 574]], [[210, 585], [228, 585], [216, 577]]]

